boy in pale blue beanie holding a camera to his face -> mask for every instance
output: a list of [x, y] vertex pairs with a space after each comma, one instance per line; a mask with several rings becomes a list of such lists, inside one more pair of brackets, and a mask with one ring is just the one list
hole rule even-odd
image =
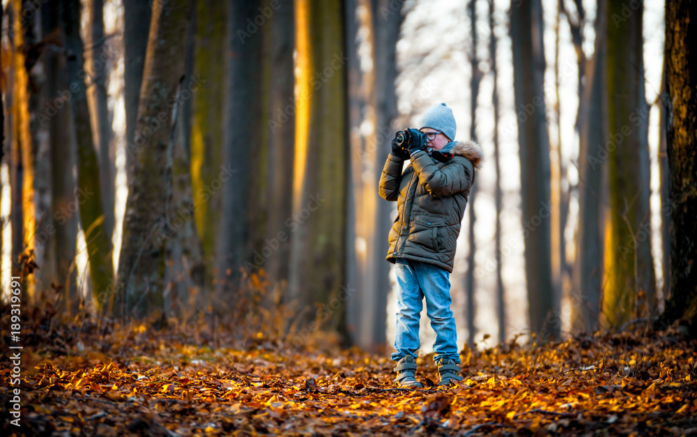
[[[419, 124], [426, 145], [408, 141], [400, 146], [393, 140], [380, 178], [381, 197], [397, 201], [387, 256], [397, 273], [397, 351], [391, 358], [397, 362], [395, 382], [406, 388], [422, 387], [415, 379], [415, 358], [424, 296], [436, 331], [439, 384], [462, 379], [449, 277], [467, 197], [482, 161], [482, 149], [474, 141], [452, 141], [455, 118], [445, 103], [430, 107]], [[406, 159], [411, 165], [402, 173]]]

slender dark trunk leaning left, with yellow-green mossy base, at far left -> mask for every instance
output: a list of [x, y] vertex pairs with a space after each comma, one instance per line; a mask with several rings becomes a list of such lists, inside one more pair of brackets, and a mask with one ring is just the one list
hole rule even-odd
[[66, 0], [63, 5], [63, 25], [65, 26], [66, 49], [68, 50], [66, 72], [68, 73], [69, 88], [74, 94], [70, 99], [70, 109], [77, 142], [78, 191], [76, 201], [79, 204], [79, 217], [87, 244], [92, 291], [97, 309], [101, 310], [102, 305], [106, 303], [105, 299], [114, 280], [114, 265], [112, 264], [111, 232], [105, 229], [105, 215], [102, 212], [98, 156], [92, 137], [85, 83], [81, 76], [84, 61], [82, 59], [82, 38], [80, 38], [79, 23], [79, 0]]

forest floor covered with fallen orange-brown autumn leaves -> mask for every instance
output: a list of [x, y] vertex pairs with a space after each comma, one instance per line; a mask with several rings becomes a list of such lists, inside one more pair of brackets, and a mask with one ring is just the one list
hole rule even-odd
[[450, 388], [434, 386], [426, 355], [425, 388], [404, 390], [388, 353], [330, 339], [295, 348], [262, 332], [240, 342], [51, 317], [23, 317], [17, 428], [3, 308], [3, 435], [697, 435], [697, 343], [672, 328], [465, 349]]

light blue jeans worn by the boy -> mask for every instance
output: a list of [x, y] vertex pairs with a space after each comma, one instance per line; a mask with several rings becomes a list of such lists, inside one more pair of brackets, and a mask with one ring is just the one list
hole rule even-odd
[[419, 350], [419, 320], [426, 297], [426, 314], [431, 328], [436, 331], [434, 361], [441, 358], [460, 364], [457, 351], [457, 330], [450, 309], [450, 273], [432, 264], [397, 259], [397, 335], [392, 360], [399, 361], [406, 355], [416, 358]]

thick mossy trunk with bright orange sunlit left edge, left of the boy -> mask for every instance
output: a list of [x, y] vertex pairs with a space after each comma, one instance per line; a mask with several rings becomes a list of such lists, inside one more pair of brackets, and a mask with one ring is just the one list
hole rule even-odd
[[[300, 335], [324, 326], [346, 338], [346, 84], [343, 3], [298, 0], [298, 111], [291, 297], [305, 313]], [[321, 44], [316, 43], [322, 41]], [[319, 77], [316, 74], [319, 72]], [[319, 82], [318, 82], [319, 81]], [[316, 85], [316, 84], [319, 84]], [[307, 96], [307, 98], [305, 98]], [[292, 229], [291, 229], [292, 230]]]

